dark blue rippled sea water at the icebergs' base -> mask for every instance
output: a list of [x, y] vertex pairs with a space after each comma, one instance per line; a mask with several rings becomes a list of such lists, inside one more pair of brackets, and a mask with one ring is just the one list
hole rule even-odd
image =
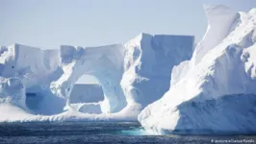
[[[227, 141], [229, 140], [229, 141]], [[0, 143], [256, 143], [253, 135], [146, 135], [138, 122], [0, 123]]]

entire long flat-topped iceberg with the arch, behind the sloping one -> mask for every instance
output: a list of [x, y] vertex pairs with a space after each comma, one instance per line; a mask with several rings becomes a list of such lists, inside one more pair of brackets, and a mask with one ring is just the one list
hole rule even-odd
[[[172, 67], [191, 59], [192, 46], [193, 36], [147, 34], [125, 44], [100, 47], [63, 45], [60, 50], [42, 50], [14, 44], [1, 47], [1, 81], [21, 81], [25, 95], [18, 96], [25, 99], [23, 108], [28, 113], [53, 115], [71, 110], [120, 113], [122, 118], [134, 115], [137, 119], [142, 108], [166, 93]], [[93, 76], [104, 93], [103, 101], [94, 103], [93, 108], [86, 105], [85, 110], [73, 105], [79, 102], [70, 103], [72, 88], [83, 75]], [[0, 94], [0, 103], [9, 102]]]

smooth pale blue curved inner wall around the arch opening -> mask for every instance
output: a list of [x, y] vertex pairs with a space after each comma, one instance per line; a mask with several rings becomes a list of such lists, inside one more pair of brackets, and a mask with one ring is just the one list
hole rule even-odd
[[[80, 71], [81, 72], [81, 71]], [[84, 103], [82, 104], [72, 104], [72, 94], [71, 91], [74, 89], [74, 85], [78, 80], [84, 75], [90, 76], [96, 80], [96, 82], [102, 88], [104, 94], [104, 100], [98, 103]], [[70, 93], [67, 92], [67, 106], [71, 106], [72, 108], [77, 109], [78, 111], [84, 113], [109, 113], [109, 112], [117, 112], [126, 106], [126, 99], [124, 97], [122, 88], [120, 86], [120, 76], [115, 73], [115, 71], [108, 70], [106, 68], [102, 69], [102, 67], [97, 67], [91, 71], [84, 70], [82, 73], [78, 74], [73, 80], [71, 84], [65, 86], [64, 89], [70, 89]], [[70, 87], [70, 88], [68, 88]], [[81, 106], [86, 107], [82, 110]], [[100, 110], [94, 110], [100, 109]], [[91, 111], [92, 109], [92, 111]]]

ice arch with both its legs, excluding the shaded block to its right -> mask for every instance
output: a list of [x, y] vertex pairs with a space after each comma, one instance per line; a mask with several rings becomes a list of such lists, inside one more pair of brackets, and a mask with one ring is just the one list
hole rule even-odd
[[104, 91], [104, 101], [100, 107], [103, 112], [116, 112], [126, 106], [125, 96], [120, 86], [123, 73], [122, 45], [102, 47], [61, 46], [61, 62], [64, 69], [62, 77], [51, 84], [52, 91], [67, 100], [72, 85], [83, 75], [95, 77]]

